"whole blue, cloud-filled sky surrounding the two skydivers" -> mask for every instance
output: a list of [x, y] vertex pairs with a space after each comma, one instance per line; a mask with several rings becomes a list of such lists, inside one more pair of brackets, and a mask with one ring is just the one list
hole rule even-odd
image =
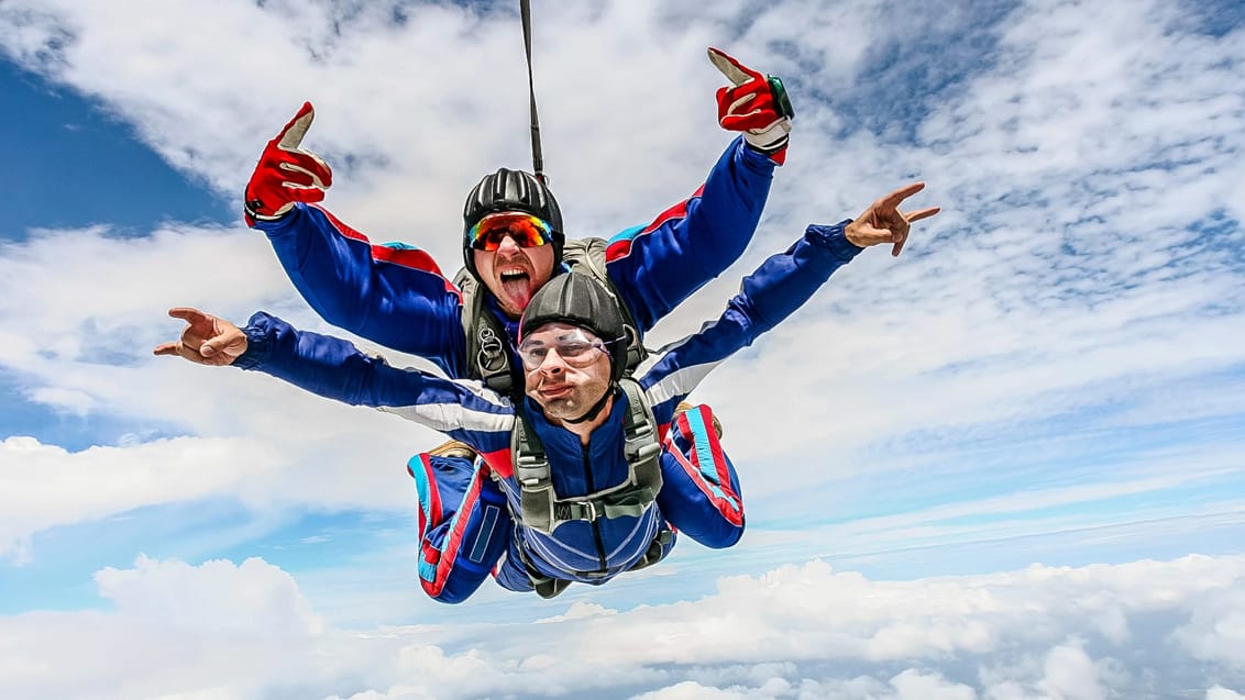
[[452, 269], [468, 189], [530, 164], [517, 4], [0, 0], [6, 698], [1245, 698], [1245, 5], [533, 22], [570, 235], [647, 223], [730, 144], [707, 46], [794, 102], [748, 250], [652, 347], [809, 223], [913, 180], [942, 208], [693, 394], [743, 540], [436, 603], [405, 465], [437, 434], [151, 354], [173, 306], [346, 336], [240, 220], [304, 99], [326, 206]]

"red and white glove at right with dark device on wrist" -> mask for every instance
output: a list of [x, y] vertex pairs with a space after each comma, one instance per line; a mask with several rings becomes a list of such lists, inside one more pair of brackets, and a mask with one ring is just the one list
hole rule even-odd
[[712, 46], [708, 60], [731, 81], [731, 87], [717, 91], [718, 124], [743, 132], [749, 145], [782, 164], [787, 158], [791, 118], [796, 116], [782, 81], [758, 73]]

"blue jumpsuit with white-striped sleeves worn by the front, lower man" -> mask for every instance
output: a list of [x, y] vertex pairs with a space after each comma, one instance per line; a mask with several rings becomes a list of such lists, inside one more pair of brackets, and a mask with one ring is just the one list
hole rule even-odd
[[530, 591], [533, 574], [600, 584], [632, 568], [655, 541], [661, 556], [677, 531], [710, 547], [728, 547], [743, 532], [743, 504], [733, 465], [722, 453], [707, 407], [675, 414], [675, 407], [732, 353], [796, 311], [859, 247], [843, 235], [847, 221], [809, 226], [786, 252], [745, 277], [738, 295], [716, 321], [667, 347], [639, 377], [660, 424], [662, 489], [640, 516], [569, 521], [544, 533], [524, 526], [519, 485], [510, 463], [510, 430], [523, 410], [544, 444], [554, 490], [575, 497], [619, 485], [629, 476], [622, 453], [626, 397], [615, 398], [605, 424], [586, 448], [579, 436], [549, 424], [539, 405], [510, 400], [479, 382], [449, 380], [390, 367], [351, 343], [291, 328], [256, 313], [250, 341], [235, 362], [314, 393], [378, 407], [472, 445], [482, 459], [472, 469], [412, 460], [421, 486], [420, 578], [443, 602], [469, 597], [493, 572], [513, 591]]

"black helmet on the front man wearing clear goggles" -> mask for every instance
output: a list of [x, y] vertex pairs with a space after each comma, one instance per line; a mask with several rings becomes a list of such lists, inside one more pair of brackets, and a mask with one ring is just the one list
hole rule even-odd
[[626, 369], [626, 322], [619, 301], [600, 282], [579, 272], [564, 272], [545, 282], [523, 312], [519, 337], [545, 323], [566, 323], [595, 333], [610, 352], [610, 379], [618, 382], [622, 377]]

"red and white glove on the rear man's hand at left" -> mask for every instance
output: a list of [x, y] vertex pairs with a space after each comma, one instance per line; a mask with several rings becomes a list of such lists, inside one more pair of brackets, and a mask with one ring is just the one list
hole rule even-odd
[[332, 185], [332, 169], [329, 164], [315, 153], [299, 148], [312, 119], [315, 108], [310, 102], [304, 102], [281, 133], [268, 142], [250, 182], [247, 183], [244, 206], [248, 226], [254, 226], [255, 219], [280, 219], [294, 208], [295, 201], [320, 201], [324, 199], [324, 190]]

